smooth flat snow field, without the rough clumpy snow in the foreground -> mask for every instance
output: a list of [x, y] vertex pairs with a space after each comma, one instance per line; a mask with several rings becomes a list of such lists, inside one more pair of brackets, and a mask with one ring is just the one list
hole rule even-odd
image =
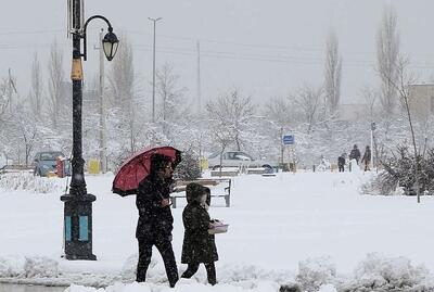
[[[385, 257], [405, 256], [411, 264], [434, 270], [432, 257], [433, 198], [371, 196], [359, 187], [369, 174], [284, 173], [234, 179], [231, 207], [216, 199], [212, 217], [230, 224], [229, 232], [216, 238], [220, 282], [251, 278], [294, 279], [298, 264], [307, 258], [328, 257], [339, 274], [353, 274], [370, 253]], [[79, 278], [84, 270], [116, 280], [128, 257], [137, 252], [135, 198], [110, 191], [113, 176], [87, 177], [93, 204], [93, 251], [97, 262], [68, 262], [62, 254], [63, 204], [61, 191], [35, 194], [0, 192], [0, 264], [21, 269], [23, 256], [48, 256], [59, 263], [63, 275]], [[63, 180], [59, 180], [62, 186]], [[221, 200], [221, 201], [220, 201]], [[183, 227], [180, 207], [175, 217], [174, 250], [180, 258]], [[165, 278], [159, 256], [155, 279]], [[129, 262], [128, 262], [129, 261]], [[1, 265], [0, 265], [1, 266]], [[184, 269], [180, 265], [180, 270]], [[0, 269], [1, 275], [1, 269]], [[113, 278], [106, 277], [110, 275]], [[199, 279], [204, 278], [200, 271]]]

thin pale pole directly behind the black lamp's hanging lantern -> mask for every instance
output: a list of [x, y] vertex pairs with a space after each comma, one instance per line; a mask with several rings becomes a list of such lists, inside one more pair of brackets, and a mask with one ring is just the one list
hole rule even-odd
[[99, 88], [99, 98], [100, 98], [100, 166], [101, 172], [105, 174], [107, 172], [107, 145], [106, 145], [106, 125], [105, 125], [105, 103], [104, 103], [104, 51], [102, 48], [103, 40], [103, 31], [100, 31], [100, 88]]

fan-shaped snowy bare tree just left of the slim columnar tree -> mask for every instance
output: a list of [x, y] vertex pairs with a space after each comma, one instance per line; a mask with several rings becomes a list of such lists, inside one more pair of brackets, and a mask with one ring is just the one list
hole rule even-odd
[[322, 88], [315, 88], [305, 85], [298, 90], [295, 97], [292, 97], [294, 103], [297, 105], [298, 111], [302, 113], [304, 123], [307, 124], [307, 134], [309, 134], [316, 122], [318, 115], [318, 107], [322, 97]]

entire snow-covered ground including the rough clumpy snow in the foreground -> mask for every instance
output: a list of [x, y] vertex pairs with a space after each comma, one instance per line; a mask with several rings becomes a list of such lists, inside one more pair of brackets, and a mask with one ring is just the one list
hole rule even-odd
[[[106, 292], [277, 291], [297, 283], [321, 292], [356, 287], [434, 289], [434, 198], [360, 194], [370, 173], [279, 173], [235, 177], [231, 207], [215, 199], [212, 217], [230, 224], [216, 236], [216, 287], [201, 267], [169, 290], [154, 251], [149, 283], [133, 283], [137, 263], [135, 196], [111, 192], [113, 175], [87, 176], [93, 203], [97, 262], [62, 255], [66, 179], [0, 177], [0, 281], [106, 287]], [[42, 187], [40, 187], [42, 185]], [[33, 191], [37, 189], [37, 192]], [[216, 190], [217, 191], [217, 190]], [[184, 202], [173, 210], [174, 250], [180, 258]], [[186, 269], [179, 265], [180, 272]], [[322, 284], [322, 288], [321, 288]], [[73, 285], [69, 291], [97, 291]], [[350, 290], [353, 289], [353, 290]], [[409, 291], [409, 290], [408, 290]], [[412, 291], [412, 290], [411, 290]], [[414, 290], [417, 291], [417, 290]], [[419, 290], [418, 290], [419, 291]], [[423, 291], [423, 290], [420, 290]], [[430, 291], [430, 290], [426, 290]]]

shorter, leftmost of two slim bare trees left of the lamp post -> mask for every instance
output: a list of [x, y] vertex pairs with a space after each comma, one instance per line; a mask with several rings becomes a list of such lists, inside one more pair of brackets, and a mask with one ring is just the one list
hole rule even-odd
[[38, 53], [35, 52], [31, 64], [31, 88], [29, 92], [29, 101], [33, 114], [37, 117], [40, 117], [42, 114], [42, 72]]

